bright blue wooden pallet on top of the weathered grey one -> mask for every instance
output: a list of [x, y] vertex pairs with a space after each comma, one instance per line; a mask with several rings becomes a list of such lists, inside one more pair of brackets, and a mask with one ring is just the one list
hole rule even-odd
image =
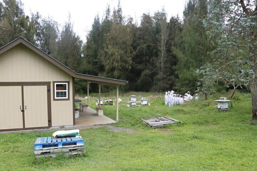
[[34, 150], [73, 147], [73, 146], [84, 146], [83, 138], [76, 138], [76, 137], [66, 137], [66, 138], [39, 137], [35, 141]]

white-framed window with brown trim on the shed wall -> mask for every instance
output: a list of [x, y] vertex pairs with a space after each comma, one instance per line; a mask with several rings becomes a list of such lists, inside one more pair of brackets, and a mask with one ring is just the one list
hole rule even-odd
[[68, 82], [53, 82], [54, 100], [69, 100]]

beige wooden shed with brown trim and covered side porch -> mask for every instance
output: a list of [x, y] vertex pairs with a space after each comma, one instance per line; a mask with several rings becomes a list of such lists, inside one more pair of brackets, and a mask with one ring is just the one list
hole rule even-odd
[[75, 78], [99, 84], [99, 96], [114, 85], [117, 98], [128, 83], [78, 74], [22, 37], [0, 48], [0, 131], [75, 125]]

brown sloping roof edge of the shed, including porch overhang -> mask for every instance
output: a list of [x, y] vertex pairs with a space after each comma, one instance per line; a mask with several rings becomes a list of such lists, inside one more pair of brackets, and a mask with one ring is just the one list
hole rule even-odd
[[96, 84], [107, 84], [107, 85], [126, 85], [129, 82], [124, 81], [124, 80], [117, 80], [117, 79], [112, 79], [112, 78], [106, 78], [106, 77], [98, 77], [98, 76], [93, 76], [93, 75], [86, 75], [86, 74], [79, 74], [76, 73], [75, 71], [71, 70], [61, 62], [57, 61], [55, 58], [51, 57], [50, 55], [46, 54], [44, 51], [41, 49], [37, 48], [35, 45], [24, 39], [23, 37], [19, 37], [10, 43], [6, 44], [5, 46], [0, 48], [0, 54], [4, 53], [5, 51], [11, 49], [12, 47], [16, 46], [17, 44], [24, 44], [26, 47], [30, 48], [31, 50], [35, 51], [35, 53], [39, 54], [43, 58], [45, 58], [47, 61], [51, 62], [55, 66], [59, 67], [66, 73], [70, 74], [74, 78], [78, 79], [84, 79], [92, 83]]

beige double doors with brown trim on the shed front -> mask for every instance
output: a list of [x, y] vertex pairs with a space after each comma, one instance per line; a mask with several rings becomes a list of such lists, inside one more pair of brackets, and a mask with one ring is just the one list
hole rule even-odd
[[1, 85], [0, 131], [51, 126], [51, 119], [48, 118], [50, 84], [5, 83]]

